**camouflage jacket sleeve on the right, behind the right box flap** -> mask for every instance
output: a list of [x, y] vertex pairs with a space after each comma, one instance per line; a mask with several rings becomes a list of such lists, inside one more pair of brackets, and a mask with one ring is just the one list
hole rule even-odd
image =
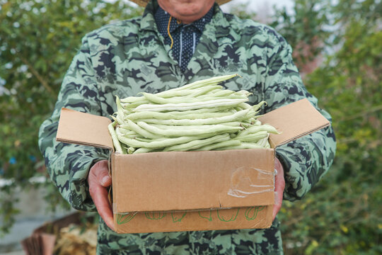
[[[266, 111], [308, 98], [320, 113], [332, 122], [326, 111], [318, 108], [318, 100], [309, 94], [293, 63], [291, 47], [284, 38], [269, 57], [265, 81]], [[335, 135], [332, 127], [306, 135], [286, 145], [277, 147], [276, 157], [284, 166], [284, 199], [301, 199], [330, 168], [335, 157]]]

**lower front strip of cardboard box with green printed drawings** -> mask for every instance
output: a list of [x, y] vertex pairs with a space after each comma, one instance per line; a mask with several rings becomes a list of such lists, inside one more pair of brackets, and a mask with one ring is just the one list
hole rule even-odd
[[115, 215], [118, 233], [217, 229], [262, 229], [272, 225], [272, 205], [192, 212], [141, 212]]

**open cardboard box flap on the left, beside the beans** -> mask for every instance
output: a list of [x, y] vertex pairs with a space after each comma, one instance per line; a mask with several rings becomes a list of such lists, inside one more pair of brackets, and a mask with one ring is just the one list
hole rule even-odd
[[56, 140], [114, 150], [106, 117], [61, 109]]

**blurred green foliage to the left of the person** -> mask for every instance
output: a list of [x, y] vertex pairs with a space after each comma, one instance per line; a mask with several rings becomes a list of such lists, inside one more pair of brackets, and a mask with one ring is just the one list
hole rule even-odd
[[[141, 8], [125, 1], [0, 0], [0, 233], [13, 224], [16, 186], [43, 185], [54, 210], [63, 202], [46, 176], [37, 147], [38, 128], [52, 112], [62, 78], [81, 38], [107, 23], [137, 16]], [[49, 180], [49, 178], [47, 178]]]

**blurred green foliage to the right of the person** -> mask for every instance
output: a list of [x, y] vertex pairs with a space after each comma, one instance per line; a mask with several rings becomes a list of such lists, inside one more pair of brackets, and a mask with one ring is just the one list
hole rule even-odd
[[[314, 5], [320, 8], [309, 8]], [[280, 18], [276, 25], [297, 48], [301, 35], [310, 44], [312, 38], [323, 42], [308, 55], [323, 56], [323, 63], [304, 83], [332, 115], [337, 154], [311, 193], [284, 203], [285, 253], [382, 254], [381, 1], [297, 0], [294, 12], [290, 17], [283, 11], [288, 25]]]

